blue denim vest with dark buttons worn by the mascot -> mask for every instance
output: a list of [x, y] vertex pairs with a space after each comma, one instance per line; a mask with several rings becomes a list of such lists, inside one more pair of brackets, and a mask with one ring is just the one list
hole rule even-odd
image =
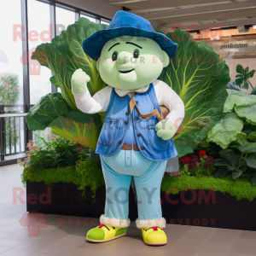
[[[160, 112], [153, 84], [150, 84], [146, 92], [135, 94], [134, 99], [141, 113], [151, 113], [154, 108]], [[127, 127], [132, 119], [137, 145], [145, 158], [161, 161], [177, 156], [172, 139], [164, 141], [156, 135], [154, 130], [154, 126], [158, 123], [156, 116], [142, 119], [136, 108], [133, 108], [131, 113], [130, 100], [129, 96], [120, 97], [115, 90], [112, 90], [102, 131], [96, 145], [96, 154], [111, 156], [117, 153], [123, 146]]]

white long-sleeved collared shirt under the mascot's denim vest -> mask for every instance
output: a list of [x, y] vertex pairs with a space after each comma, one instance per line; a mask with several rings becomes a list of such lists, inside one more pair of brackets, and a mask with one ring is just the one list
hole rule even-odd
[[[170, 120], [172, 124], [176, 125], [178, 128], [181, 125], [184, 118], [184, 104], [182, 99], [177, 95], [177, 93], [172, 90], [172, 88], [165, 82], [156, 79], [153, 83], [154, 91], [157, 101], [160, 106], [165, 106], [170, 110], [170, 113], [166, 116], [166, 119]], [[138, 90], [132, 90], [135, 92], [143, 93], [147, 91], [149, 85], [144, 86]], [[82, 94], [74, 94], [77, 107], [84, 113], [99, 113], [105, 112], [108, 108], [112, 90], [119, 96], [125, 96], [131, 90], [120, 90], [115, 89], [111, 86], [106, 86], [102, 90], [96, 92], [94, 96], [90, 96], [89, 90], [86, 90]]]

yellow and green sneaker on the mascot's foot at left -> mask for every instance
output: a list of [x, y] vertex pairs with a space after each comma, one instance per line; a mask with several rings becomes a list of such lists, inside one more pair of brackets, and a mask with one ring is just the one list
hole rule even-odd
[[112, 226], [100, 224], [94, 229], [88, 231], [86, 240], [94, 242], [111, 241], [113, 239], [125, 236], [127, 228], [115, 228]]

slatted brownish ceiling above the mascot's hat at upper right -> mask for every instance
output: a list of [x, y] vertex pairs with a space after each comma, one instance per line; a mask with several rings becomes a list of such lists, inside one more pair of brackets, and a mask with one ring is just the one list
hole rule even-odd
[[[189, 30], [256, 24], [256, 0], [101, 0], [151, 22]], [[255, 31], [256, 32], [256, 31]]]

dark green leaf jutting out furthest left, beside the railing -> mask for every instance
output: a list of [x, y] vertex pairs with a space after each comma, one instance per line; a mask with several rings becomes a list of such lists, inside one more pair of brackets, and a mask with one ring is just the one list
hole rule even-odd
[[61, 93], [49, 93], [29, 110], [26, 124], [33, 131], [44, 130], [54, 119], [71, 110]]

